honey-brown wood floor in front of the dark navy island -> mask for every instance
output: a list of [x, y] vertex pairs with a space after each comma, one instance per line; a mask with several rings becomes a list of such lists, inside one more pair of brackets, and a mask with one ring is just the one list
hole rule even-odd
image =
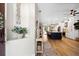
[[62, 38], [62, 40], [48, 39], [57, 56], [79, 56], [79, 41]]

